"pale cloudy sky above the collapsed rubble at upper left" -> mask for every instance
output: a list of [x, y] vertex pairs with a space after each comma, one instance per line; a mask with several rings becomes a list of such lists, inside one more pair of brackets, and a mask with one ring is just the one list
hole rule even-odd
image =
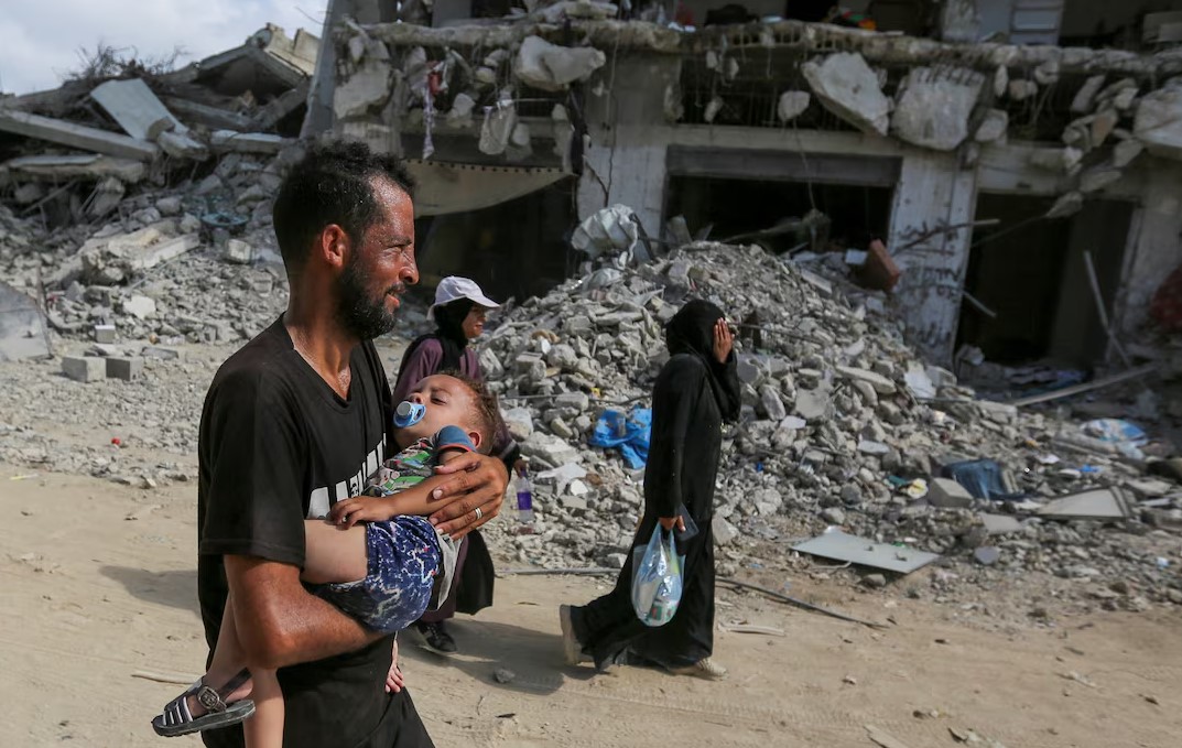
[[[80, 67], [78, 50], [99, 41], [158, 58], [180, 46], [182, 64], [241, 45], [268, 21], [288, 35], [320, 35], [327, 0], [5, 0], [0, 91], [57, 87]], [[310, 18], [311, 17], [311, 18]], [[316, 19], [314, 21], [312, 19]]]

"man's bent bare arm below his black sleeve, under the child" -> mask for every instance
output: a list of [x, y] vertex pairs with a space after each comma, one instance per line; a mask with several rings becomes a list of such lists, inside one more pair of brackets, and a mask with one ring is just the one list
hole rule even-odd
[[227, 555], [225, 562], [234, 624], [252, 668], [324, 659], [383, 636], [310, 594], [296, 566], [249, 555]]

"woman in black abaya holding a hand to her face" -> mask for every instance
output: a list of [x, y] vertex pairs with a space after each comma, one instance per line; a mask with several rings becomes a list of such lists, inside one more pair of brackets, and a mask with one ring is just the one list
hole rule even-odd
[[669, 363], [652, 390], [652, 437], [644, 470], [644, 516], [632, 549], [657, 523], [680, 528], [684, 506], [697, 534], [677, 544], [684, 553], [681, 605], [663, 626], [645, 626], [632, 610], [632, 553], [616, 588], [584, 606], [563, 605], [563, 645], [570, 664], [591, 658], [596, 668], [652, 664], [673, 672], [721, 679], [714, 651], [714, 479], [722, 422], [739, 416], [734, 339], [722, 310], [689, 301], [665, 326]]

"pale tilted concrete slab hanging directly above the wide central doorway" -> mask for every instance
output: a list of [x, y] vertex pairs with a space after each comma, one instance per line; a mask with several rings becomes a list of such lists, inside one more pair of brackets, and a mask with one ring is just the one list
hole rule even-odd
[[883, 95], [878, 76], [860, 54], [830, 54], [819, 63], [805, 63], [800, 72], [825, 109], [863, 132], [886, 135], [890, 99]]

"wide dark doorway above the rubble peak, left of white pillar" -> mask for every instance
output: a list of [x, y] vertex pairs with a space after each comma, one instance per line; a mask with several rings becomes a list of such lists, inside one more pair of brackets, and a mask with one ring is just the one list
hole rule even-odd
[[[774, 253], [865, 249], [885, 239], [898, 170], [897, 158], [670, 147], [664, 219]], [[827, 219], [819, 241], [813, 212]]]

